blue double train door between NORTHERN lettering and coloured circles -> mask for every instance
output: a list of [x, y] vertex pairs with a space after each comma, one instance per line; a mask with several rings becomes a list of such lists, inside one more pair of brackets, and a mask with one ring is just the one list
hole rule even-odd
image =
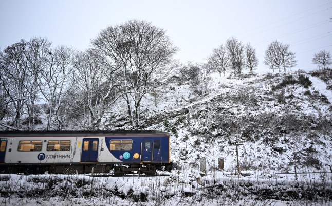
[[98, 161], [98, 143], [98, 138], [83, 139], [81, 162]]

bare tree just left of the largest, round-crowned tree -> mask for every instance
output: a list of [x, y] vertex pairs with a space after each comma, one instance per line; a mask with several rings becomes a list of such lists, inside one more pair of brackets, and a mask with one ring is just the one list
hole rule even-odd
[[99, 129], [106, 110], [112, 109], [115, 101], [122, 96], [122, 93], [116, 92], [116, 69], [103, 64], [106, 62], [103, 58], [99, 50], [89, 49], [79, 52], [75, 60], [78, 91], [76, 109], [82, 111], [83, 107], [85, 126], [89, 129]]

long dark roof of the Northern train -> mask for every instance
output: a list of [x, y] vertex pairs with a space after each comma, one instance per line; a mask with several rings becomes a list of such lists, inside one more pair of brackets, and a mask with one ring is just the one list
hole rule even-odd
[[169, 136], [168, 132], [162, 131], [115, 131], [115, 130], [96, 130], [96, 131], [0, 131], [0, 137], [90, 137], [90, 136]]

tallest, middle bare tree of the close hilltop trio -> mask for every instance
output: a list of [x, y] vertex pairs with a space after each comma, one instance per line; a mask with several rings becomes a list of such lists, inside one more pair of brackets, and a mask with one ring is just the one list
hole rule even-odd
[[238, 74], [241, 76], [242, 69], [244, 68], [244, 45], [232, 37], [226, 41], [226, 49], [230, 58], [230, 67], [234, 72], [234, 75]]

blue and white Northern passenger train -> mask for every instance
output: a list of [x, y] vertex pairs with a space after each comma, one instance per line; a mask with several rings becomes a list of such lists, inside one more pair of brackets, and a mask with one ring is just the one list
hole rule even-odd
[[160, 131], [0, 132], [0, 173], [172, 170], [170, 134]]

